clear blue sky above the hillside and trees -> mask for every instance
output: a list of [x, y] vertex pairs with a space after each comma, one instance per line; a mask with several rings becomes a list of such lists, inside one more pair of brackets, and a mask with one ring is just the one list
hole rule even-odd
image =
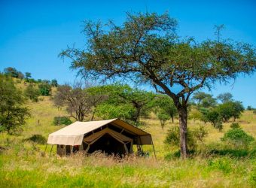
[[[122, 23], [126, 11], [168, 11], [178, 20], [178, 34], [197, 41], [214, 38], [213, 27], [224, 24], [223, 36], [256, 46], [256, 2], [244, 1], [11, 1], [0, 0], [0, 71], [11, 66], [35, 79], [72, 83], [76, 72], [58, 54], [67, 45], [84, 47], [83, 20]], [[231, 92], [234, 99], [256, 108], [256, 74], [233, 85], [215, 85], [211, 93]]]

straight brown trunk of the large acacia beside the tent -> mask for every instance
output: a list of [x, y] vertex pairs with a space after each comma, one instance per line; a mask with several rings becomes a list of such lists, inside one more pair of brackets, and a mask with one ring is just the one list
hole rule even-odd
[[178, 108], [181, 158], [187, 158], [187, 108]]

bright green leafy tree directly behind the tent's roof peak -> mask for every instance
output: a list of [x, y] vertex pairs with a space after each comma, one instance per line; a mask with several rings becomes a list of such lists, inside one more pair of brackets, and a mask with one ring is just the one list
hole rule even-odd
[[[141, 89], [133, 89], [128, 85], [120, 85], [119, 83], [100, 86], [98, 92], [103, 92], [108, 96], [103, 106], [96, 108], [97, 114], [100, 117], [117, 117], [123, 120], [129, 120], [133, 124], [141, 124], [140, 118], [147, 117], [151, 110], [151, 101], [155, 95], [152, 92], [146, 92]], [[106, 107], [109, 105], [110, 108], [119, 108], [119, 112], [112, 109], [109, 111]], [[126, 110], [126, 107], [128, 110]], [[104, 114], [109, 113], [109, 114]], [[116, 117], [114, 117], [116, 118]]]

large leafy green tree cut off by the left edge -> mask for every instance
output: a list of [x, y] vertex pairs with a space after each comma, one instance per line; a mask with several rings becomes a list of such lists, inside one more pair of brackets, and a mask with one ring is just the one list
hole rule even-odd
[[24, 105], [23, 93], [14, 86], [11, 77], [0, 74], [0, 132], [13, 134], [26, 123], [29, 109]]

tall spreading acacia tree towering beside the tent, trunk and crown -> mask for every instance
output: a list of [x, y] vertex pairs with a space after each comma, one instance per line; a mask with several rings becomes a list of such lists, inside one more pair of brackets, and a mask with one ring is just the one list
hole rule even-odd
[[126, 77], [171, 97], [178, 110], [181, 156], [185, 158], [190, 95], [216, 81], [227, 83], [240, 73], [254, 72], [256, 60], [248, 44], [219, 37], [197, 43], [193, 38], [178, 38], [176, 26], [168, 14], [155, 13], [128, 13], [121, 26], [87, 21], [87, 49], [68, 48], [60, 56], [71, 58], [72, 68], [84, 77]]

